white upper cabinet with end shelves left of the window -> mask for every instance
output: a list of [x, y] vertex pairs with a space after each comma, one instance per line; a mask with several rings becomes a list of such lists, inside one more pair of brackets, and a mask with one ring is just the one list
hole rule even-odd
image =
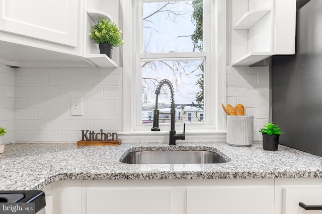
[[[89, 33], [100, 18], [118, 24], [119, 1], [0, 0], [0, 63], [14, 67], [116, 68]], [[94, 21], [95, 22], [94, 22]]]

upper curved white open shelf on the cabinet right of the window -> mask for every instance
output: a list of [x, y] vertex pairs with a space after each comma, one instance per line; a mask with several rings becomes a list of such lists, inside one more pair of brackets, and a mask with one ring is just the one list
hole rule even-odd
[[236, 23], [233, 29], [248, 30], [253, 25], [255, 25], [255, 23], [260, 21], [270, 11], [271, 11], [271, 8], [262, 8], [262, 9], [255, 9], [255, 10], [249, 11], [243, 17], [241, 17], [241, 19]]

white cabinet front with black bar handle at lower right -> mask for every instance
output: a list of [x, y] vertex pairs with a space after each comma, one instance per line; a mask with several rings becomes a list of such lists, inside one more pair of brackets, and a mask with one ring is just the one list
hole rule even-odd
[[322, 210], [303, 209], [299, 202], [322, 206], [322, 186], [283, 188], [283, 214], [321, 214]]

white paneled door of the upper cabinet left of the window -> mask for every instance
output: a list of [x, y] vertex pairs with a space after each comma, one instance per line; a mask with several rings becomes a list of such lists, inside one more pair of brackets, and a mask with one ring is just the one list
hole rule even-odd
[[77, 0], [0, 0], [0, 31], [77, 45]]

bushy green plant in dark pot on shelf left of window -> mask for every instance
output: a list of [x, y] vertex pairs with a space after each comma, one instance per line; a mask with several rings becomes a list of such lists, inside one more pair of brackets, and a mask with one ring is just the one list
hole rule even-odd
[[111, 59], [114, 47], [124, 44], [121, 31], [116, 24], [105, 19], [101, 19], [93, 26], [90, 36], [95, 43], [99, 44], [100, 53], [106, 54]]

